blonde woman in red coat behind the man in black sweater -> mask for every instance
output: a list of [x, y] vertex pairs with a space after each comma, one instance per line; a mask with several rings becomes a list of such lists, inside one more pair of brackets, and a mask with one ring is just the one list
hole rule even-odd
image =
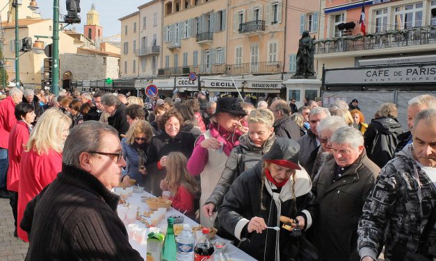
[[[27, 203], [38, 195], [62, 169], [63, 144], [70, 133], [72, 121], [56, 108], [46, 110], [33, 128], [24, 146], [18, 189], [19, 224]], [[28, 241], [27, 233], [18, 226], [18, 236]]]

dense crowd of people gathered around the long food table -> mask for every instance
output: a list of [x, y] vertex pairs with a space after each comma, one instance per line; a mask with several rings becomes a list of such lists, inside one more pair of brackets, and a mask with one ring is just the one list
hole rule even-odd
[[[436, 258], [436, 98], [365, 122], [359, 102], [143, 99], [14, 87], [0, 196], [35, 260], [142, 260], [111, 193], [131, 180], [257, 260]], [[369, 115], [366, 115], [368, 118]], [[279, 230], [270, 229], [279, 227]]]

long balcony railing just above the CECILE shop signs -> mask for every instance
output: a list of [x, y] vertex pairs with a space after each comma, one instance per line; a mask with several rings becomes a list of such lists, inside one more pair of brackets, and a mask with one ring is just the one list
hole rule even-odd
[[198, 65], [161, 68], [158, 75], [189, 74], [277, 74], [282, 72], [282, 62], [248, 62], [235, 65]]

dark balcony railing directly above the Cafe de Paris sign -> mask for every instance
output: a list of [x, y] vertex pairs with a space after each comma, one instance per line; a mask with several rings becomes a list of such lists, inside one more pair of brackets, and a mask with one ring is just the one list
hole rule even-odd
[[316, 54], [412, 47], [423, 44], [436, 44], [436, 26], [318, 40]]

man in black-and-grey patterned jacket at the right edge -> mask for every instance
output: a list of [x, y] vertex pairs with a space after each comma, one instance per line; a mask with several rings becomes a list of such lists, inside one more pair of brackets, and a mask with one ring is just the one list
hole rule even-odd
[[357, 230], [364, 261], [377, 260], [383, 245], [386, 261], [436, 258], [436, 109], [417, 114], [412, 135], [364, 204]]

